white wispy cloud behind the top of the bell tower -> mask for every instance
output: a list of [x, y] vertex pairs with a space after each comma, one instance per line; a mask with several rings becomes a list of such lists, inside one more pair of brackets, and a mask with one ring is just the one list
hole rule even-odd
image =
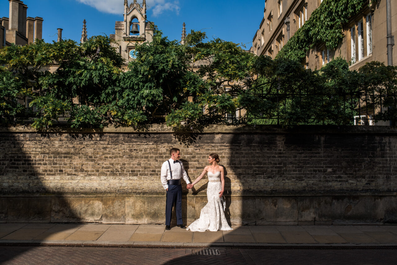
[[[77, 0], [80, 3], [86, 4], [88, 6], [92, 6], [96, 8], [100, 12], [110, 13], [110, 14], [123, 14], [124, 10], [124, 0]], [[133, 0], [128, 1], [129, 4], [133, 2]], [[142, 0], [138, 1], [142, 4]], [[165, 11], [175, 12], [175, 14], [179, 14], [179, 2], [173, 1], [170, 2], [168, 0], [147, 0], [146, 7], [148, 10], [152, 11], [152, 15], [157, 17]]]

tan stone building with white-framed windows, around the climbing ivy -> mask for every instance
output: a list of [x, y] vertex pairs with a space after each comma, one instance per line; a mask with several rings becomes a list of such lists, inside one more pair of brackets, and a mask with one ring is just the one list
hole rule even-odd
[[[328, 0], [324, 0], [328, 1]], [[265, 1], [264, 17], [252, 40], [251, 52], [275, 58], [283, 45], [304, 25], [323, 0], [272, 0]], [[342, 43], [334, 50], [318, 43], [311, 49], [302, 64], [306, 68], [320, 69], [332, 58], [341, 56], [357, 70], [366, 62], [387, 64], [386, 1], [364, 5], [343, 26]], [[397, 6], [391, 1], [391, 35], [397, 35]], [[397, 52], [393, 52], [393, 65], [397, 65]]]

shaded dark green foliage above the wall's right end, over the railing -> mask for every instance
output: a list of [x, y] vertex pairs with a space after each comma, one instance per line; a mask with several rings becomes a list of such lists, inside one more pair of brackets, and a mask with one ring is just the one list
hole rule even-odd
[[396, 120], [396, 69], [371, 62], [358, 72], [349, 71], [346, 60], [335, 58], [312, 71], [297, 61], [260, 56], [254, 72], [258, 78], [239, 95], [239, 102], [253, 124], [351, 125], [353, 116], [366, 106], [381, 105], [393, 108], [376, 119]]

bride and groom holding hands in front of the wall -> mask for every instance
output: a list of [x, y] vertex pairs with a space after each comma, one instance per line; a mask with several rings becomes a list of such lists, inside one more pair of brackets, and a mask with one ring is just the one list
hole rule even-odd
[[[180, 150], [172, 148], [171, 158], [162, 164], [161, 184], [167, 191], [166, 199], [166, 230], [171, 229], [172, 207], [175, 205], [177, 226], [186, 230], [204, 232], [206, 230], [231, 230], [227, 224], [221, 198], [224, 193], [225, 179], [224, 168], [219, 163], [219, 156], [212, 153], [208, 156], [209, 165], [204, 168], [200, 176], [191, 184], [183, 164], [178, 159], [181, 157]], [[187, 188], [191, 189], [207, 173], [207, 199], [208, 203], [201, 209], [200, 218], [188, 227], [182, 221], [182, 185], [181, 178], [187, 183]]]

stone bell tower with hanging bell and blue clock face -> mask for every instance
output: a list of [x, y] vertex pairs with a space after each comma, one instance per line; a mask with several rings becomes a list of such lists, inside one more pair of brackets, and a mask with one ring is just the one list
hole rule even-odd
[[124, 21], [116, 21], [115, 33], [110, 38], [116, 43], [112, 44], [118, 48], [121, 56], [126, 60], [136, 58], [136, 43], [151, 42], [153, 40], [153, 23], [146, 21], [146, 0], [142, 6], [134, 0], [128, 4], [124, 0]]

